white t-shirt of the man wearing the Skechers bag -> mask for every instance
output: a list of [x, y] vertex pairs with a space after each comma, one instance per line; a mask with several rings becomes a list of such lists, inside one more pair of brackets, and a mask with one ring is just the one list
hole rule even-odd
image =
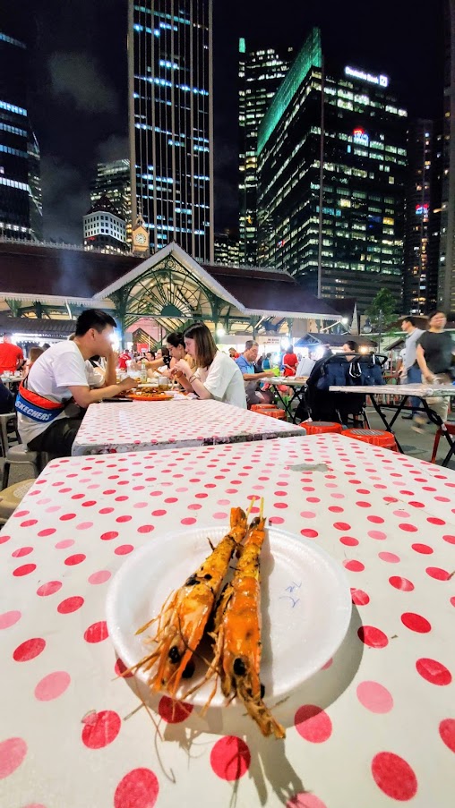
[[[85, 361], [77, 344], [71, 340], [51, 345], [47, 351], [41, 353], [37, 361], [30, 368], [26, 387], [33, 393], [44, 395], [50, 401], [63, 402], [72, 398], [69, 387], [82, 386], [100, 387], [104, 379], [99, 370]], [[72, 412], [73, 411], [73, 412]], [[75, 407], [67, 407], [52, 421], [59, 418], [69, 418], [79, 412]], [[33, 438], [47, 430], [48, 423], [32, 421], [22, 413], [17, 413], [17, 425], [23, 443], [30, 443]]]

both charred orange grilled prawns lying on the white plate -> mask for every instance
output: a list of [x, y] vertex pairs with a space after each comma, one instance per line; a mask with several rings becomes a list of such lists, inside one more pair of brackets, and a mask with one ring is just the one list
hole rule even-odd
[[[262, 701], [260, 557], [265, 535], [262, 506], [263, 500], [260, 516], [253, 519], [249, 526], [241, 508], [231, 509], [230, 532], [212, 549], [210, 556], [186, 580], [184, 586], [169, 595], [159, 616], [136, 632], [141, 634], [159, 621], [157, 634], [146, 641], [156, 643], [157, 648], [131, 670], [150, 670], [158, 663], [158, 668], [150, 675], [150, 690], [165, 691], [175, 698], [182, 677], [193, 675], [193, 654], [213, 612], [214, 630], [210, 637], [215, 641], [214, 659], [202, 682], [185, 693], [184, 698], [216, 676], [217, 681], [202, 710], [203, 714], [216, 693], [219, 677], [222, 693], [227, 698], [237, 696], [241, 699], [263, 736], [284, 738], [284, 727], [273, 718]], [[245, 543], [242, 544], [244, 539]], [[219, 597], [235, 550], [238, 557], [236, 570], [232, 581], [226, 584]]]

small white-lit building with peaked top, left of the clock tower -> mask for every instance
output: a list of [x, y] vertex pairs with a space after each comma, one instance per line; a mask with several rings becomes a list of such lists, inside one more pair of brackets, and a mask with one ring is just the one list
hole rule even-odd
[[126, 225], [106, 195], [101, 196], [83, 217], [85, 250], [126, 252]]

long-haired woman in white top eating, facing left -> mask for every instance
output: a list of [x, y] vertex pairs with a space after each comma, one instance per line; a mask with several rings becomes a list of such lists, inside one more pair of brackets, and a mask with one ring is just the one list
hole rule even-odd
[[203, 323], [187, 328], [185, 348], [195, 360], [196, 370], [185, 359], [176, 362], [172, 372], [182, 387], [199, 398], [214, 398], [246, 409], [244, 377], [236, 362], [218, 350], [209, 328]]

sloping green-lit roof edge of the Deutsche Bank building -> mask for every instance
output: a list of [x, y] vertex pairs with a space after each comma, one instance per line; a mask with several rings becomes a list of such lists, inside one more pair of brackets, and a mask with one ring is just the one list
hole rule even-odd
[[261, 154], [271, 133], [278, 125], [282, 115], [288, 109], [289, 104], [296, 95], [305, 77], [312, 67], [322, 66], [321, 30], [313, 28], [310, 35], [305, 39], [304, 47], [296, 56], [296, 61], [289, 68], [286, 78], [279, 85], [273, 100], [262, 118], [258, 132], [257, 153]]

